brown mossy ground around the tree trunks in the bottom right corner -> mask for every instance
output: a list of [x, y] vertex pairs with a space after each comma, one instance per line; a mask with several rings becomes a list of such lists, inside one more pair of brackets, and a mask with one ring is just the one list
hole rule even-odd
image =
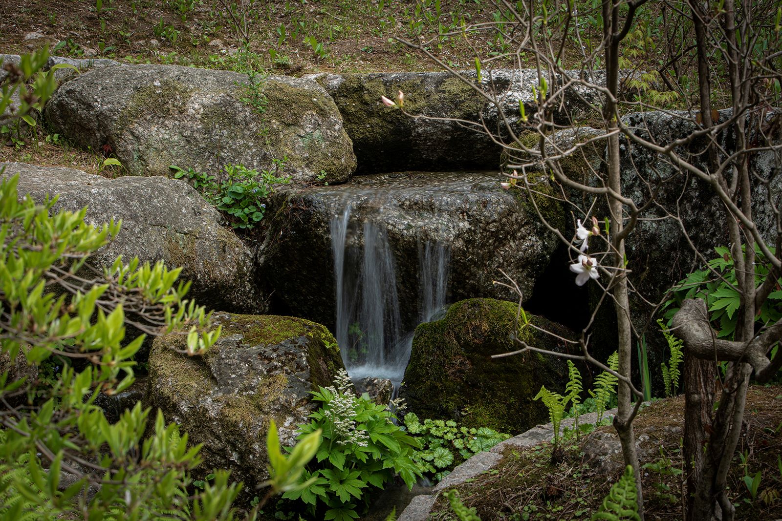
[[[634, 423], [641, 456], [646, 519], [683, 519], [685, 494], [681, 438], [683, 397], [656, 401], [640, 412]], [[612, 426], [596, 433], [613, 433]], [[594, 434], [593, 434], [594, 436]], [[587, 437], [588, 439], [588, 437]], [[729, 474], [730, 497], [736, 505], [736, 519], [778, 519], [782, 516], [782, 471], [777, 457], [782, 452], [782, 387], [751, 387], [741, 441]], [[497, 469], [475, 477], [458, 487], [461, 499], [477, 509], [481, 519], [570, 520], [590, 519], [608, 489], [621, 473], [621, 454], [615, 461], [616, 473], [605, 476], [587, 461], [582, 448], [569, 444], [564, 459], [551, 465], [551, 445], [525, 451], [506, 449]], [[745, 460], [744, 460], [745, 459]], [[761, 473], [753, 499], [744, 476]], [[456, 519], [447, 499], [437, 498], [432, 519]]]

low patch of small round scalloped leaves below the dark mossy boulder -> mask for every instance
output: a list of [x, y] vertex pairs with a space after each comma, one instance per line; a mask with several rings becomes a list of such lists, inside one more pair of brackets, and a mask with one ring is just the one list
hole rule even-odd
[[421, 448], [413, 451], [413, 460], [430, 480], [439, 481], [465, 459], [488, 451], [510, 434], [500, 434], [489, 427], [468, 428], [454, 420], [425, 419], [412, 412], [404, 415], [404, 426]]

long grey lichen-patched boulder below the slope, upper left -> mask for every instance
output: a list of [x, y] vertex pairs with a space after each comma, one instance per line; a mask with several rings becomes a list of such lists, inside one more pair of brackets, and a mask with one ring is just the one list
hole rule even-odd
[[219, 174], [228, 164], [294, 180], [341, 182], [356, 159], [342, 117], [313, 80], [183, 66], [93, 70], [63, 84], [46, 105], [52, 129], [77, 145], [110, 149], [128, 171], [168, 176], [169, 166]]

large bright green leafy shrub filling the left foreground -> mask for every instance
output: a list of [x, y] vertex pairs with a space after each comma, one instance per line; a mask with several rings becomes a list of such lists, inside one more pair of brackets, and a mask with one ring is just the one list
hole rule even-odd
[[[91, 266], [90, 255], [119, 223], [96, 228], [84, 222], [86, 209], [53, 212], [56, 198], [20, 200], [17, 180], [0, 181], [0, 517], [232, 519], [241, 484], [216, 471], [213, 484], [192, 494], [199, 447], [188, 447], [176, 424], [158, 413], [144, 439], [149, 409], [137, 404], [111, 424], [95, 405], [99, 391], [115, 394], [134, 381], [133, 357], [145, 335], [126, 339], [126, 323], [149, 334], [182, 334], [188, 355], [206, 352], [219, 328], [211, 330], [205, 310], [185, 300], [180, 269], [140, 266], [138, 259]], [[45, 365], [54, 355], [72, 362], [46, 392], [9, 371], [15, 363]], [[64, 473], [74, 483], [61, 487]], [[84, 499], [88, 486], [99, 493]]]

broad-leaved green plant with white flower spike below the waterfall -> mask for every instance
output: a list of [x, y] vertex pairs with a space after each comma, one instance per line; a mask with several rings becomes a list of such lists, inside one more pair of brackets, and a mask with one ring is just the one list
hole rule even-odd
[[412, 487], [421, 476], [412, 455], [418, 441], [393, 423], [388, 405], [378, 405], [368, 394], [356, 396], [343, 370], [335, 386], [312, 393], [321, 406], [300, 425], [299, 439], [321, 430], [315, 459], [303, 471], [299, 490], [283, 498], [303, 501], [311, 519], [351, 521], [366, 511], [371, 494], [400, 476]]

